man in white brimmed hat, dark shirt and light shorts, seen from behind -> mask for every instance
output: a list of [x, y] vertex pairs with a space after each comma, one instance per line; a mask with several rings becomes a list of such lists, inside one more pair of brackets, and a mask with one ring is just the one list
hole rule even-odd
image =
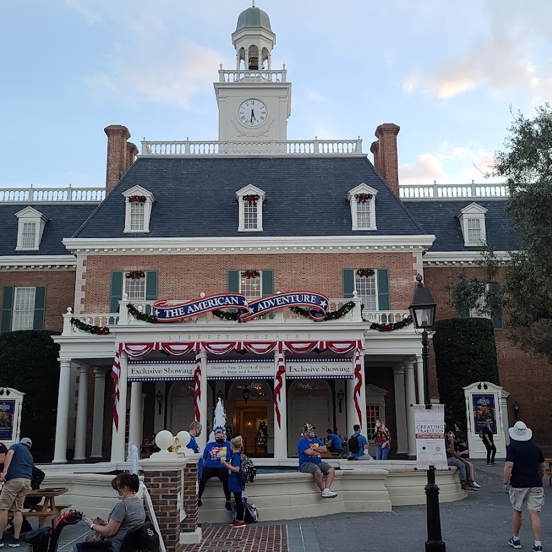
[[540, 446], [531, 440], [533, 431], [524, 422], [515, 422], [509, 428], [511, 442], [506, 447], [506, 462], [504, 463], [504, 492], [509, 493], [513, 508], [513, 535], [508, 544], [512, 548], [521, 548], [520, 531], [522, 528], [522, 512], [529, 511], [531, 527], [535, 537], [533, 552], [542, 552], [540, 511], [544, 504], [544, 456]]

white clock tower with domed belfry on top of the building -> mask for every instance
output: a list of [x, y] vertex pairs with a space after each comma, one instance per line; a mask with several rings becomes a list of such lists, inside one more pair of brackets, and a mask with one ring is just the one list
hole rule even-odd
[[219, 70], [215, 94], [219, 141], [286, 141], [291, 114], [291, 83], [286, 68], [272, 69], [276, 35], [268, 14], [248, 8], [237, 19], [232, 41], [236, 69]]

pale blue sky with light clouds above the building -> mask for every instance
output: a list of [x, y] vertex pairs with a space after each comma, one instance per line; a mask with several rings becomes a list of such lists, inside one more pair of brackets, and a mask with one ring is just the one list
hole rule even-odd
[[[213, 82], [251, 0], [0, 0], [0, 187], [103, 186], [106, 135], [216, 140]], [[257, 0], [288, 139], [400, 125], [401, 184], [483, 182], [510, 109], [552, 97], [552, 2]]]

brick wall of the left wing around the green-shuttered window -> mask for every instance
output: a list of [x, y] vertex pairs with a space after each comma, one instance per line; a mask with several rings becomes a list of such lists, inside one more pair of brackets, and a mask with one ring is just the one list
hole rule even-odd
[[46, 313], [44, 328], [61, 331], [67, 307], [75, 302], [74, 270], [1, 270], [0, 271], [0, 310], [2, 308], [4, 286], [35, 287], [46, 286]]

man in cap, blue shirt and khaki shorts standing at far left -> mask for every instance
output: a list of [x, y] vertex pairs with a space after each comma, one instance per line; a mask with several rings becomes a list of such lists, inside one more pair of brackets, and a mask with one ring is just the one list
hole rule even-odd
[[[8, 524], [8, 511], [13, 511], [13, 540], [10, 546], [19, 546], [19, 534], [23, 524], [23, 502], [30, 492], [30, 481], [32, 479], [32, 455], [30, 447], [32, 442], [28, 437], [23, 437], [19, 444], [12, 444], [6, 460], [4, 469], [0, 474], [0, 481], [4, 482], [0, 493], [0, 538], [3, 537], [4, 529]], [[0, 542], [0, 548], [4, 546]]]

